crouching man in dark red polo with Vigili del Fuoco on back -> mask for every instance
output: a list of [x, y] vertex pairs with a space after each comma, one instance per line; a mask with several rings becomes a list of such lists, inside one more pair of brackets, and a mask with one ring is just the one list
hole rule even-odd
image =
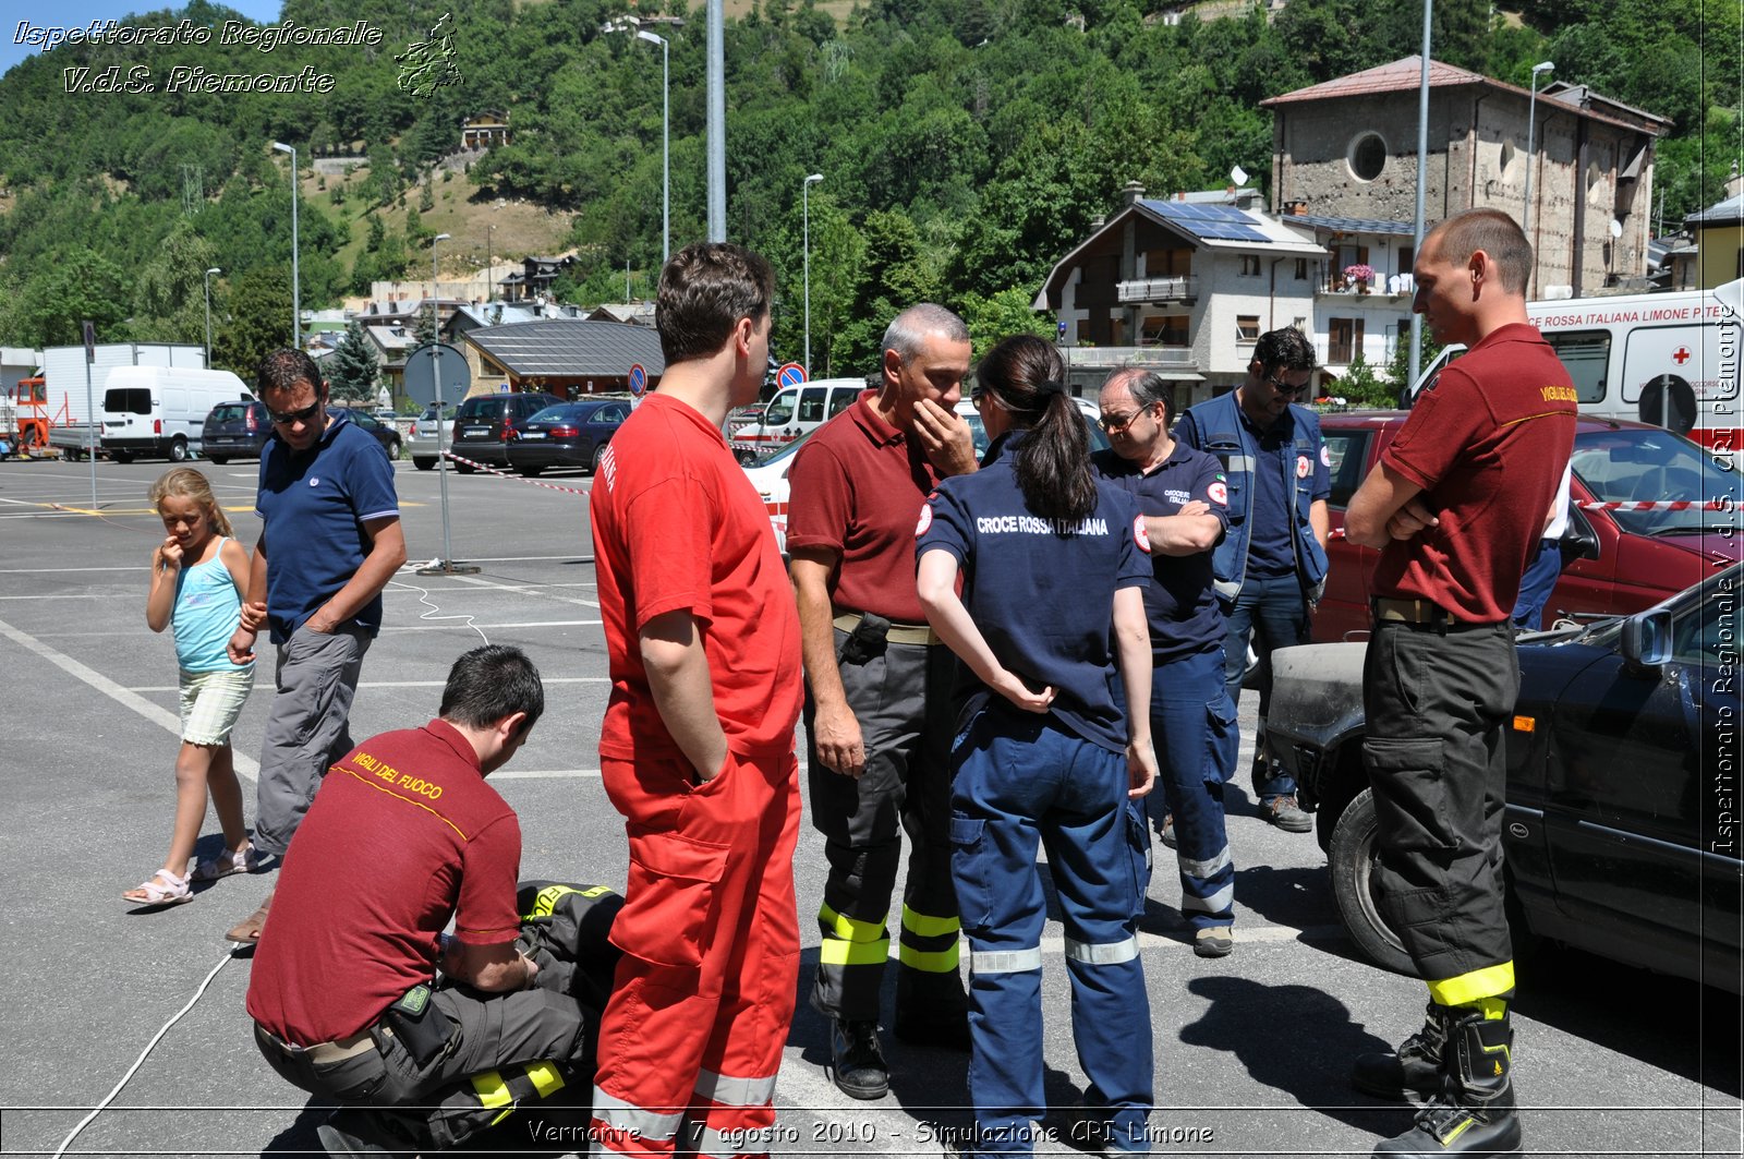
[[[450, 1147], [591, 1070], [582, 1007], [530, 988], [520, 822], [485, 784], [542, 710], [520, 649], [466, 653], [441, 717], [352, 749], [291, 840], [248, 1012], [281, 1077], [344, 1105], [316, 1129], [330, 1154]], [[466, 986], [433, 990], [438, 964]]]

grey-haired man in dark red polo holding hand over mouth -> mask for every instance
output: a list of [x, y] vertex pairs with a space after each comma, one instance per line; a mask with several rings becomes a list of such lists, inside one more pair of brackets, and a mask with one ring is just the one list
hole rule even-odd
[[914, 588], [914, 513], [940, 478], [975, 470], [968, 422], [954, 410], [968, 370], [961, 318], [931, 304], [905, 309], [884, 332], [879, 389], [825, 422], [790, 475], [811, 822], [830, 862], [811, 1005], [832, 1019], [832, 1075], [853, 1098], [889, 1091], [877, 1019], [903, 829], [896, 1037], [968, 1049], [950, 885], [957, 665]]

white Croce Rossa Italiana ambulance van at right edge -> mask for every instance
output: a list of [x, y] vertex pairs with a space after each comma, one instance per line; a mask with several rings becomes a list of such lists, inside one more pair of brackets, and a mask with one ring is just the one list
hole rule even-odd
[[[1582, 414], [1686, 435], [1716, 463], [1744, 463], [1739, 339], [1744, 279], [1714, 290], [1528, 302], [1526, 316], [1575, 381]], [[1428, 382], [1448, 347], [1420, 379]]]

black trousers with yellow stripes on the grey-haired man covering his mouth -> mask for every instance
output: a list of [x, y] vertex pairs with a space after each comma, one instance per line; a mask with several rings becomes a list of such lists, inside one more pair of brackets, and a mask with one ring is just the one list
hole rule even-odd
[[[846, 653], [844, 653], [846, 649]], [[875, 1021], [889, 958], [889, 902], [909, 836], [898, 948], [896, 1007], [905, 1018], [961, 1018], [957, 901], [950, 888], [949, 648], [884, 642], [860, 655], [835, 630], [848, 707], [860, 723], [865, 772], [844, 777], [818, 761], [816, 709], [806, 698], [811, 822], [823, 834], [828, 876], [811, 1005], [830, 1018]]]

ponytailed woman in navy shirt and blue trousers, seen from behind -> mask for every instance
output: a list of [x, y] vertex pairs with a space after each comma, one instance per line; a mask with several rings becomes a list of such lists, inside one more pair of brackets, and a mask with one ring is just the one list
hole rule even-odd
[[[1036, 843], [1066, 918], [1073, 1039], [1106, 1112], [1092, 1140], [1146, 1152], [1151, 1014], [1135, 918], [1149, 841], [1134, 801], [1156, 759], [1146, 714], [1149, 543], [1135, 501], [1090, 471], [1064, 367], [1034, 337], [982, 361], [975, 403], [992, 445], [944, 480], [916, 531], [928, 623], [968, 665], [952, 745], [950, 876], [970, 941], [975, 1152], [1032, 1154], [1046, 1114]], [[959, 597], [957, 576], [963, 578]], [[1118, 653], [1118, 674], [1116, 674]]]

